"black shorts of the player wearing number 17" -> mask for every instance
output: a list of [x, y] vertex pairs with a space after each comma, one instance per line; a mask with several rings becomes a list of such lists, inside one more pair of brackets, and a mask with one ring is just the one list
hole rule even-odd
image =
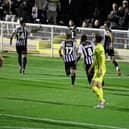
[[70, 69], [76, 69], [76, 63], [75, 61], [72, 62], [65, 62], [65, 72], [66, 75], [70, 75]]

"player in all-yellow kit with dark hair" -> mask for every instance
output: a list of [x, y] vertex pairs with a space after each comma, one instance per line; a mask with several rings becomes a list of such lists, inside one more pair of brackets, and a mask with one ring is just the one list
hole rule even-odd
[[95, 36], [95, 50], [94, 50], [94, 61], [88, 70], [91, 73], [92, 68], [94, 68], [94, 76], [92, 78], [91, 86], [92, 90], [96, 93], [98, 97], [98, 104], [96, 108], [104, 108], [105, 99], [103, 97], [102, 81], [106, 72], [105, 65], [105, 52], [103, 44], [101, 43], [102, 37], [100, 35]]

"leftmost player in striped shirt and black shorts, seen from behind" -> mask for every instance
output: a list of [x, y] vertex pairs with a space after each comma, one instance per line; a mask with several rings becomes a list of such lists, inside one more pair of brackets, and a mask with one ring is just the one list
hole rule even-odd
[[28, 30], [25, 26], [23, 18], [20, 19], [20, 26], [15, 29], [10, 38], [10, 45], [12, 45], [13, 37], [16, 36], [16, 51], [18, 54], [18, 64], [20, 66], [19, 72], [25, 72], [27, 64], [27, 38]]

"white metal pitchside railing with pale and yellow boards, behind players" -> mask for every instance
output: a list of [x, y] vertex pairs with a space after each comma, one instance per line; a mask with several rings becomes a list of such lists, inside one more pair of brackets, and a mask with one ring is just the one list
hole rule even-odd
[[[0, 21], [0, 50], [1, 51], [15, 51], [15, 41], [10, 47], [10, 35], [18, 25], [16, 22]], [[26, 24], [30, 30], [28, 48], [29, 52], [38, 52], [47, 56], [56, 56], [61, 40], [64, 34], [69, 31], [67, 26], [44, 25], [44, 24]], [[103, 29], [81, 28], [77, 27], [77, 41], [82, 34], [87, 34], [88, 39], [93, 38], [93, 33], [100, 33], [103, 35]], [[113, 30], [115, 36], [115, 48], [128, 50], [129, 48], [129, 31]], [[122, 53], [121, 53], [122, 55]], [[129, 55], [129, 54], [128, 54]]]

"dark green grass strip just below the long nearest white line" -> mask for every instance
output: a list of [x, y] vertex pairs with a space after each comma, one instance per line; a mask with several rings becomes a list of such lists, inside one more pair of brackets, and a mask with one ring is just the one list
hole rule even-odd
[[[17, 116], [17, 115], [2, 115], [0, 118], [6, 120], [16, 120], [16, 121], [24, 121], [26, 124], [28, 122], [35, 122], [40, 124], [49, 124], [51, 126], [57, 126], [58, 128], [66, 128], [66, 129], [100, 129], [93, 124], [88, 123], [79, 123], [79, 122], [70, 122], [70, 121], [63, 121], [63, 120], [52, 120], [52, 119], [44, 119], [44, 118], [33, 118], [33, 117], [25, 117], [25, 116]], [[55, 128], [55, 127], [54, 127]]]

